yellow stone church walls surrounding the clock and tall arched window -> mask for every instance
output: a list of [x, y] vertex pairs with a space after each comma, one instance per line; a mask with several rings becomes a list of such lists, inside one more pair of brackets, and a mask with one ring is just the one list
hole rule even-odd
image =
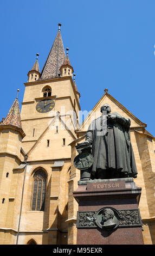
[[[37, 75], [37, 79], [31, 81], [31, 74]], [[105, 90], [79, 127], [80, 94], [72, 74], [63, 76], [62, 72], [62, 76], [43, 80], [38, 79], [38, 74], [38, 70], [31, 70], [24, 84], [22, 131], [0, 125], [0, 244], [76, 244], [78, 203], [73, 191], [78, 187], [80, 171], [73, 164], [78, 154], [75, 145], [85, 140], [88, 125], [100, 114], [104, 103], [111, 106], [112, 112], [131, 120], [131, 142], [138, 169], [134, 181], [142, 187], [139, 209], [144, 243], [154, 244], [155, 142], [146, 124]], [[40, 113], [36, 105], [46, 99], [46, 87], [51, 88], [48, 99], [55, 105], [51, 111]], [[43, 211], [32, 210], [34, 174], [39, 169], [47, 175]]]

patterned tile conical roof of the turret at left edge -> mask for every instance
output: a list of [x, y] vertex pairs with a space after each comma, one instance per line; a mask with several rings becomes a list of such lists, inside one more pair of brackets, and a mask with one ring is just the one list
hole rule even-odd
[[7, 117], [0, 125], [13, 125], [22, 129], [20, 106], [17, 97], [11, 106]]

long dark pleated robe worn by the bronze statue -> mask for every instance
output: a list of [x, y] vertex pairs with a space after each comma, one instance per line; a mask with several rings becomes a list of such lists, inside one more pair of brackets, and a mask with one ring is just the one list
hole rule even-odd
[[95, 175], [97, 169], [114, 169], [114, 172], [134, 177], [137, 175], [137, 167], [130, 141], [131, 121], [116, 112], [111, 115], [117, 115], [117, 119], [112, 123], [107, 118], [105, 135], [100, 134], [105, 129], [102, 116], [92, 121], [86, 133], [86, 141], [92, 144], [94, 157], [92, 174]]

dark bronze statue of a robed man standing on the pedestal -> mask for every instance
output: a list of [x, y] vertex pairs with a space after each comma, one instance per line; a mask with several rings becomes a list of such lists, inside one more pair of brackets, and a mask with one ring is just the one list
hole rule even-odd
[[[111, 113], [107, 103], [101, 107], [101, 113], [101, 117], [89, 125], [86, 141], [76, 146], [77, 150], [86, 149], [84, 151], [91, 147], [89, 153], [94, 161], [87, 169], [90, 173], [87, 179], [136, 178], [137, 168], [130, 140], [130, 119], [117, 112]], [[81, 152], [83, 151], [79, 153]]]

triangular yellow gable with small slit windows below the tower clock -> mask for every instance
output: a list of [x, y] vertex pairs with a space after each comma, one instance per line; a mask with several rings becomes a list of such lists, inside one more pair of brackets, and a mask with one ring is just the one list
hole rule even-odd
[[29, 161], [70, 158], [68, 144], [75, 139], [57, 115], [28, 152]]

